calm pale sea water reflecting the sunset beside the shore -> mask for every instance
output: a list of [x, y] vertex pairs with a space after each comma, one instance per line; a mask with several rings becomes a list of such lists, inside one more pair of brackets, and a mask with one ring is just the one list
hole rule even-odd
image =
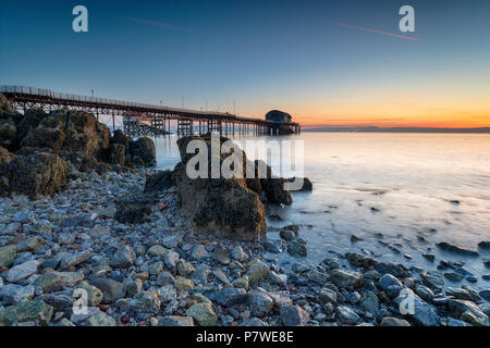
[[[441, 259], [462, 260], [477, 275], [476, 287], [488, 287], [481, 275], [490, 273], [483, 265], [490, 252], [477, 245], [490, 240], [489, 135], [303, 133], [256, 139], [304, 141], [305, 175], [314, 191], [294, 192], [293, 206], [278, 208], [284, 221], [269, 222], [309, 225], [301, 231], [309, 252], [302, 262], [318, 263], [332, 251], [364, 252], [422, 269], [434, 269]], [[177, 163], [175, 140], [156, 139], [160, 167]], [[353, 244], [352, 235], [363, 240]], [[269, 238], [279, 236], [269, 233]], [[440, 251], [434, 247], [439, 241], [478, 250], [481, 257]], [[436, 253], [436, 263], [421, 257], [428, 251]], [[287, 253], [273, 257], [293, 262]]]

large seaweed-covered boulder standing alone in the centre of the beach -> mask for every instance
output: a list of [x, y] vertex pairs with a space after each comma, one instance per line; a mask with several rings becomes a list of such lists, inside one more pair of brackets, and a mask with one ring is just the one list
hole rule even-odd
[[[203, 141], [207, 150], [208, 170], [204, 178], [191, 178], [187, 175], [186, 165], [193, 154], [186, 153], [186, 150], [192, 140]], [[210, 137], [181, 138], [177, 146], [182, 162], [175, 166], [174, 177], [182, 215], [203, 233], [237, 240], [259, 239], [267, 232], [266, 211], [258, 195], [247, 188], [243, 175], [232, 178], [220, 175], [219, 178], [211, 178], [213, 162], [221, 166], [224, 161], [226, 165], [232, 159], [236, 159], [237, 164], [234, 164], [241, 165], [237, 158], [232, 157], [233, 152], [224, 151], [226, 153], [221, 156], [213, 153]], [[241, 154], [245, 159], [245, 154], [243, 152]]]

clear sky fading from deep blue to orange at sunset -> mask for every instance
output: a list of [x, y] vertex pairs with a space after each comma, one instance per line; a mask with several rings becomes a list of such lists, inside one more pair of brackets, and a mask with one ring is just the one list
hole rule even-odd
[[488, 127], [490, 1], [2, 0], [0, 84], [305, 126]]

